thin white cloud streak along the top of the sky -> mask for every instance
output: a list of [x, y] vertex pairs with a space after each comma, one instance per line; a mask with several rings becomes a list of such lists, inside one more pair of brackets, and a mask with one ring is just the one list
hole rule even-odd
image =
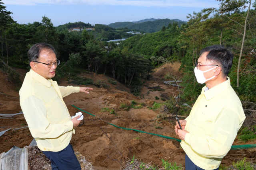
[[144, 7], [218, 7], [218, 2], [212, 0], [3, 0], [10, 5], [36, 5], [36, 4], [80, 4], [80, 5], [120, 5]]

